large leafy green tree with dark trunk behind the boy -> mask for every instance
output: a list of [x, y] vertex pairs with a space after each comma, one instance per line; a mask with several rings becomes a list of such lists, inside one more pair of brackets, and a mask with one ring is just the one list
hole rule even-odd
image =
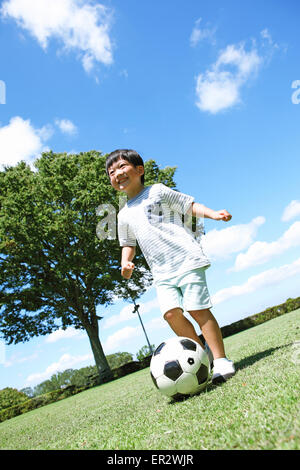
[[[175, 168], [159, 169], [154, 160], [145, 168], [146, 185], [175, 187]], [[105, 156], [96, 151], [50, 151], [34, 169], [20, 162], [0, 172], [1, 336], [16, 344], [59, 328], [84, 329], [102, 381], [111, 371], [97, 307], [116, 296], [137, 298], [151, 282], [139, 251], [132, 279], [121, 278], [113, 225], [119, 196], [107, 178]]]

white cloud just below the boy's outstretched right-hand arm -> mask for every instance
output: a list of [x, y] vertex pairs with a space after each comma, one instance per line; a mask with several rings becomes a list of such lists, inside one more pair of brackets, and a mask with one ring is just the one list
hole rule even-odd
[[249, 224], [233, 225], [221, 230], [210, 230], [202, 239], [205, 253], [212, 259], [227, 258], [232, 253], [244, 250], [256, 236], [258, 227], [266, 219], [255, 217]]

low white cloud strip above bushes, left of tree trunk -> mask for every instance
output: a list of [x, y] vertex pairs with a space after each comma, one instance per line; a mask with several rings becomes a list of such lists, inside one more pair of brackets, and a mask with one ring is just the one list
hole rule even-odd
[[83, 356], [71, 356], [70, 354], [63, 354], [57, 362], [53, 362], [46, 368], [44, 372], [31, 374], [26, 379], [26, 386], [34, 385], [50, 379], [50, 377], [58, 371], [70, 369], [75, 365], [81, 364], [85, 361], [92, 361], [92, 354], [85, 354]]

